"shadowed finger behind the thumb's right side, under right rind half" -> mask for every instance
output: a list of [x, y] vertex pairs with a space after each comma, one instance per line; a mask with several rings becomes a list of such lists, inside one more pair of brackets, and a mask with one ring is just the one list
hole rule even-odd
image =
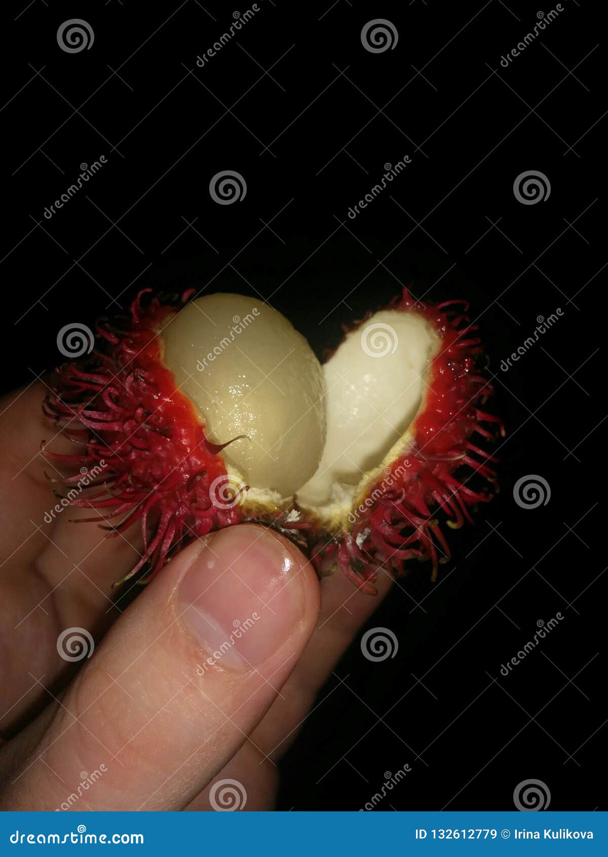
[[[337, 573], [321, 580], [319, 621], [304, 654], [289, 676], [281, 696], [275, 699], [255, 728], [251, 736], [253, 743], [242, 746], [215, 777], [215, 782], [237, 780], [247, 795], [255, 795], [255, 806], [250, 805], [247, 797], [247, 809], [270, 810], [274, 806], [278, 760], [295, 740], [331, 670], [393, 583], [390, 574], [381, 572], [376, 584], [378, 596], [370, 597], [355, 590], [343, 574]], [[188, 810], [206, 812], [213, 809], [212, 787], [213, 783], [198, 794]]]

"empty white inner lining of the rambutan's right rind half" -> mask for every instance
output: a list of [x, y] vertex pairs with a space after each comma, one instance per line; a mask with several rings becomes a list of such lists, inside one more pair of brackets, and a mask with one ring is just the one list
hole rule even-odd
[[355, 488], [404, 440], [426, 392], [440, 339], [415, 313], [383, 310], [349, 333], [325, 363], [327, 440], [319, 469], [297, 493], [301, 506], [336, 520]]

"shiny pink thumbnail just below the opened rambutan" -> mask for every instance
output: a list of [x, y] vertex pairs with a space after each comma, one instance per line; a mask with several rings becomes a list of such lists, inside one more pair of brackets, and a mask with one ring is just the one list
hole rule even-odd
[[182, 580], [182, 621], [216, 664], [252, 668], [270, 657], [304, 617], [306, 560], [263, 527], [241, 524], [214, 534]]

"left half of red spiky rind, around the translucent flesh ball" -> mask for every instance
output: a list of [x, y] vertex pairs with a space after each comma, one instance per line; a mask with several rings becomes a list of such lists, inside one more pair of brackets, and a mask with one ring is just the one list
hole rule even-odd
[[71, 505], [95, 510], [85, 520], [112, 524], [109, 536], [140, 522], [144, 553], [123, 580], [142, 569], [151, 578], [170, 552], [244, 517], [240, 498], [229, 493], [222, 446], [207, 439], [194, 406], [161, 361], [158, 331], [194, 290], [145, 305], [149, 291], [135, 298], [125, 329], [99, 324], [90, 357], [57, 369], [43, 405], [63, 435], [83, 447], [81, 454], [45, 456], [80, 465], [96, 476], [90, 484], [101, 486]]

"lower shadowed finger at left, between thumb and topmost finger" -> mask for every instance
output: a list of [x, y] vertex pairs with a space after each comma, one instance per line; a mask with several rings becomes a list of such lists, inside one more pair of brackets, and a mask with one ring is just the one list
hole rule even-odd
[[112, 590], [111, 585], [139, 558], [133, 541], [141, 547], [140, 534], [105, 539], [98, 527], [69, 524], [65, 518], [45, 538], [33, 563], [0, 581], [0, 733], [27, 722], [49, 703], [39, 680], [58, 687], [74, 673], [75, 664], [60, 644], [63, 634], [83, 628], [98, 640], [122, 614], [129, 586]]

